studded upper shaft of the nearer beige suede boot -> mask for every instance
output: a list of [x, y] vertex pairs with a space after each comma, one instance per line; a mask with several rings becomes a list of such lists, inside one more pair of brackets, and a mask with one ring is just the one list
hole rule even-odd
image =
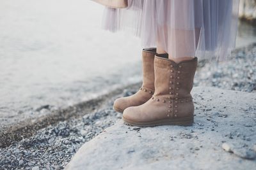
[[[191, 97], [193, 80], [197, 66], [197, 58], [185, 60], [177, 64], [173, 60], [155, 57], [155, 94], [168, 99]], [[167, 88], [166, 88], [167, 87]]]

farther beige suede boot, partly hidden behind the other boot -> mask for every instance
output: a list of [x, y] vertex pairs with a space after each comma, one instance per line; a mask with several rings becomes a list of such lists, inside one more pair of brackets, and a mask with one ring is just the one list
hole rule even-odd
[[120, 113], [131, 106], [140, 106], [152, 97], [154, 94], [154, 58], [156, 48], [147, 48], [142, 51], [142, 66], [143, 66], [143, 84], [132, 96], [121, 97], [115, 100], [113, 109]]

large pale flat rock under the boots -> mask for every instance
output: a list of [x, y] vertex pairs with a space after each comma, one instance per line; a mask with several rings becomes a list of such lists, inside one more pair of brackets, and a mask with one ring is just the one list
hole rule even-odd
[[223, 143], [255, 152], [256, 94], [196, 87], [193, 97], [193, 126], [140, 128], [120, 121], [85, 143], [66, 169], [255, 168], [253, 157], [227, 152]]

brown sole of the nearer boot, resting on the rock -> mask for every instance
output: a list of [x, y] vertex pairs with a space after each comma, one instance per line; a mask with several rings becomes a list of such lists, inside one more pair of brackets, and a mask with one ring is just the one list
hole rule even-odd
[[123, 117], [123, 120], [126, 125], [132, 125], [132, 126], [138, 126], [138, 127], [154, 127], [159, 125], [190, 126], [190, 125], [193, 125], [194, 117], [164, 118], [162, 120], [156, 120], [151, 122], [134, 122], [124, 117]]

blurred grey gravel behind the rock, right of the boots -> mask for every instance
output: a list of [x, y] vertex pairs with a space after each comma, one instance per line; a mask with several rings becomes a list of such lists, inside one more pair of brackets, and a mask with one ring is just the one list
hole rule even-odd
[[202, 61], [198, 65], [195, 86], [256, 92], [256, 44], [239, 48], [225, 62]]

